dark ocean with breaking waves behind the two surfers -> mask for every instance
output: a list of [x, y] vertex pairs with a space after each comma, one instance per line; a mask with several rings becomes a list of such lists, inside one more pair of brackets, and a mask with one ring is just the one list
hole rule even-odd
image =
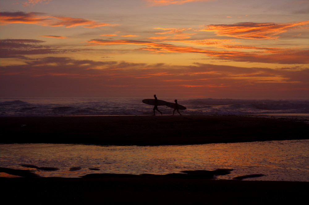
[[[153, 97], [150, 97], [152, 99]], [[0, 116], [152, 115], [144, 98], [1, 98]], [[159, 98], [174, 102], [174, 98]], [[309, 114], [309, 100], [177, 99], [187, 109], [182, 115]], [[159, 106], [163, 115], [173, 109]], [[159, 112], [157, 112], [159, 114]], [[178, 114], [177, 114], [178, 115]], [[276, 116], [273, 115], [273, 116]], [[299, 115], [301, 116], [301, 115]], [[303, 115], [306, 116], [306, 115]], [[299, 120], [303, 121], [302, 117]]]

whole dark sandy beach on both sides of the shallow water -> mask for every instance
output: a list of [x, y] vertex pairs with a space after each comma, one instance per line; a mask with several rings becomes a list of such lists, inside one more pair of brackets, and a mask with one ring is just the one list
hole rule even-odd
[[[1, 143], [180, 145], [308, 139], [309, 124], [245, 116], [0, 117]], [[216, 167], [214, 167], [215, 169]], [[184, 176], [186, 174], [182, 174]], [[0, 177], [3, 200], [33, 204], [298, 204], [308, 182], [197, 176]]]

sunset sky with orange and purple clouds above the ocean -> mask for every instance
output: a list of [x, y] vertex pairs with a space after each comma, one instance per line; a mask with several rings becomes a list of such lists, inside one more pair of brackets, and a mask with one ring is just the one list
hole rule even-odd
[[0, 97], [309, 98], [309, 0], [0, 8]]

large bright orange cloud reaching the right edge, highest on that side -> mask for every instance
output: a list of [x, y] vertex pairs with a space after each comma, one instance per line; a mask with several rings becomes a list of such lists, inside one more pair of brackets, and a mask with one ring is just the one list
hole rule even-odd
[[277, 39], [283, 32], [289, 29], [308, 28], [309, 21], [291, 22], [291, 23], [254, 23], [243, 22], [235, 24], [210, 24], [205, 26], [201, 31], [212, 31], [218, 36], [230, 36], [235, 38], [246, 39]]

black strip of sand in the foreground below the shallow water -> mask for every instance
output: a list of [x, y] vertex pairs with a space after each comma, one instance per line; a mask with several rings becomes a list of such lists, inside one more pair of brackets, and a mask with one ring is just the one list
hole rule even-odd
[[0, 178], [12, 204], [301, 204], [307, 182], [109, 177]]

